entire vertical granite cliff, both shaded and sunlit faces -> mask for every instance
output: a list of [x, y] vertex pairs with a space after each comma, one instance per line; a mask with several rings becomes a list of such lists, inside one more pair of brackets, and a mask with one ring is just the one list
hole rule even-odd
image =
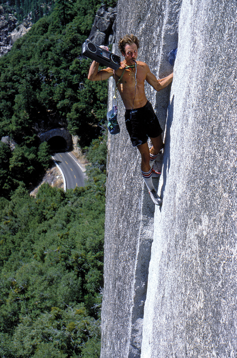
[[109, 136], [101, 358], [236, 357], [235, 23], [234, 0], [119, 0], [116, 44], [135, 33], [157, 77], [178, 53], [172, 87], [146, 89], [165, 130], [161, 208], [121, 101]]

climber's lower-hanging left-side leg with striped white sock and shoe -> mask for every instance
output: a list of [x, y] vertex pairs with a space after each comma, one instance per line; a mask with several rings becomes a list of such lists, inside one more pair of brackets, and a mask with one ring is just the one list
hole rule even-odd
[[151, 176], [151, 167], [150, 167], [150, 150], [148, 147], [147, 142], [144, 144], [137, 145], [137, 149], [140, 151], [141, 154], [141, 171], [144, 181], [146, 183], [147, 189], [151, 195], [151, 199], [153, 203], [156, 205], [161, 205], [162, 200], [158, 197], [156, 190], [152, 183], [152, 176]]

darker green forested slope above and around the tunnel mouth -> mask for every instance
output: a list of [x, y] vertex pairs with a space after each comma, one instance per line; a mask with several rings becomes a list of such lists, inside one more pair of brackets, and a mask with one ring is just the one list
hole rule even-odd
[[106, 113], [107, 86], [87, 79], [91, 60], [81, 57], [99, 6], [92, 0], [59, 0], [0, 58], [0, 138], [17, 143], [11, 153], [0, 148], [0, 192], [6, 198], [20, 181], [32, 186], [48, 165], [49, 148], [40, 144], [39, 132], [67, 127], [82, 148], [99, 134], [95, 128]]

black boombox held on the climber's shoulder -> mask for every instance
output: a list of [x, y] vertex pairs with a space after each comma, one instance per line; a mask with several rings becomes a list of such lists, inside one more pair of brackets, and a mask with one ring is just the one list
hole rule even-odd
[[87, 40], [82, 45], [82, 55], [112, 69], [118, 69], [120, 67], [119, 56]]

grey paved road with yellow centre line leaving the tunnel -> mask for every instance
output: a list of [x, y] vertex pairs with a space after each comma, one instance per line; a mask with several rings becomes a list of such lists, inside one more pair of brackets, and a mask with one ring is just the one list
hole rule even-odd
[[[52, 158], [64, 173], [66, 188], [84, 187], [85, 174], [79, 162], [69, 152], [55, 153]], [[65, 183], [64, 183], [65, 184]], [[65, 185], [64, 185], [65, 186]]]

